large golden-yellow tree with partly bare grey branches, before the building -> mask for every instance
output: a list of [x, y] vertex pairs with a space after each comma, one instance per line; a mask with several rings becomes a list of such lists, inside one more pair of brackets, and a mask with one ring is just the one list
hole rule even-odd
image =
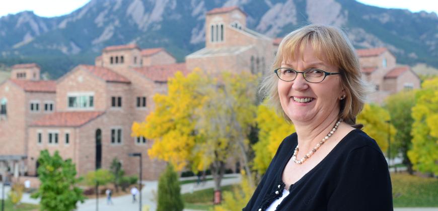
[[211, 77], [194, 71], [187, 77], [176, 74], [168, 85], [168, 95], [154, 97], [155, 111], [132, 126], [133, 136], [155, 140], [149, 155], [171, 161], [178, 170], [210, 168], [215, 190], [220, 190], [230, 156], [243, 156], [249, 170], [247, 136], [256, 112], [256, 76], [224, 72]]

